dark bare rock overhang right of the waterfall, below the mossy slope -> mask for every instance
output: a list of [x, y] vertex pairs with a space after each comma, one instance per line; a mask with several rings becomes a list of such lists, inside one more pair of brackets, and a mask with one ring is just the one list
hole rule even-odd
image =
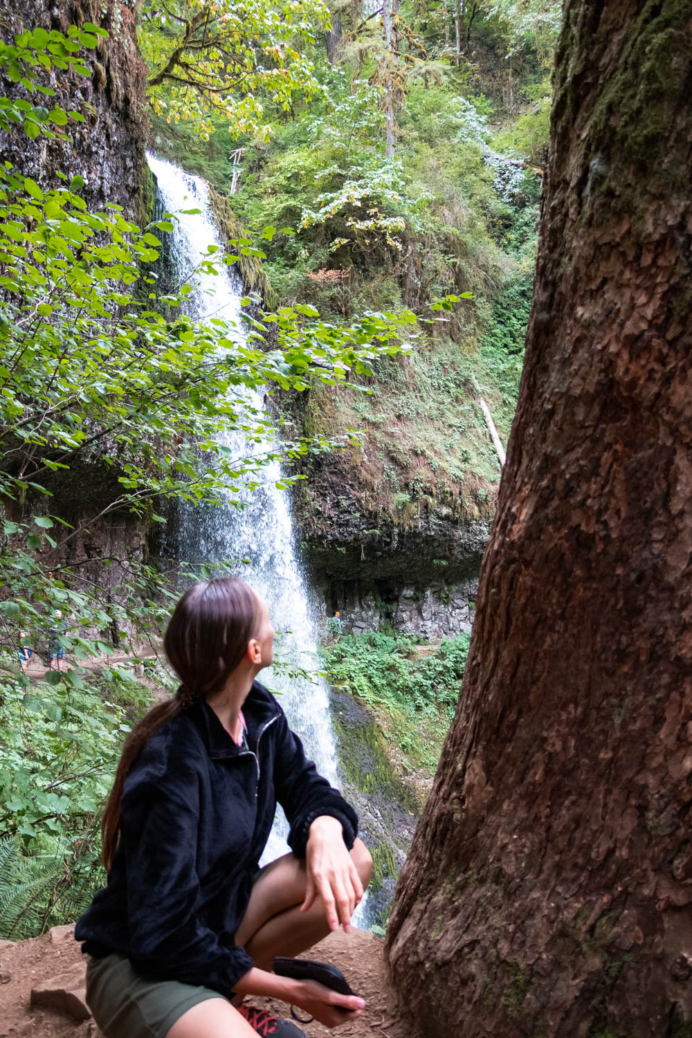
[[394, 518], [338, 455], [313, 464], [294, 512], [324, 625], [338, 612], [344, 632], [387, 624], [435, 640], [471, 629], [490, 519], [427, 500]]

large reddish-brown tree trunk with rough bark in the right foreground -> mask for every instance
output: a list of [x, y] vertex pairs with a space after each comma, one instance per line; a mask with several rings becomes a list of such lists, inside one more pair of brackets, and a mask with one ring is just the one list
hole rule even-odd
[[388, 930], [425, 1036], [692, 1034], [692, 4], [566, 0], [525, 371]]

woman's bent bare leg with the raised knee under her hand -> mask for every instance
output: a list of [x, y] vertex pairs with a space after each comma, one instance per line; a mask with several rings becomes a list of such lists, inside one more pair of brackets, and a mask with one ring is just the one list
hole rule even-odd
[[[356, 840], [351, 856], [364, 890], [372, 859], [361, 840]], [[271, 971], [276, 955], [299, 955], [331, 932], [320, 898], [307, 911], [300, 911], [306, 886], [305, 862], [293, 854], [272, 862], [254, 884], [236, 944], [260, 969]]]

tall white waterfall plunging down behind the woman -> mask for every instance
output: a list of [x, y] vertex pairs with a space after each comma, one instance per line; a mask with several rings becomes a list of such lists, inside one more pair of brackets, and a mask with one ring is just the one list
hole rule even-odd
[[[209, 245], [223, 243], [210, 211], [209, 191], [204, 181], [182, 169], [148, 157], [163, 204], [178, 215], [172, 234], [171, 262], [184, 280], [198, 266]], [[181, 214], [181, 210], [198, 209], [197, 215]], [[196, 319], [205, 316], [223, 318], [234, 324], [233, 335], [244, 339], [240, 282], [224, 267], [216, 276], [196, 276], [188, 312]], [[243, 390], [243, 403], [248, 411], [262, 411], [260, 394]], [[232, 457], [254, 457], [267, 454], [274, 446], [271, 425], [260, 442], [248, 442], [242, 430], [223, 434], [222, 443], [232, 450]], [[308, 589], [298, 565], [287, 494], [276, 487], [281, 481], [278, 462], [267, 465], [253, 476], [260, 486], [256, 490], [241, 488], [242, 508], [230, 497], [218, 507], [183, 504], [178, 514], [181, 538], [179, 557], [190, 563], [228, 564], [233, 572], [248, 581], [265, 599], [277, 633], [276, 656], [312, 673], [312, 681], [286, 677], [275, 668], [264, 671], [264, 683], [279, 693], [281, 706], [290, 727], [303, 740], [305, 750], [319, 771], [338, 785], [334, 733], [329, 715], [329, 698], [322, 678], [315, 673], [316, 635], [310, 619]], [[287, 824], [283, 813], [274, 825], [262, 863], [286, 852]]]

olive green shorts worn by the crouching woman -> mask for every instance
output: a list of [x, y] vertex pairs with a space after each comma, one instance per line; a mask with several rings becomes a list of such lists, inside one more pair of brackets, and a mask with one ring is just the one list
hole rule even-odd
[[146, 980], [123, 955], [90, 958], [86, 967], [86, 1001], [105, 1038], [166, 1038], [183, 1013], [206, 999], [223, 995], [176, 980]]

